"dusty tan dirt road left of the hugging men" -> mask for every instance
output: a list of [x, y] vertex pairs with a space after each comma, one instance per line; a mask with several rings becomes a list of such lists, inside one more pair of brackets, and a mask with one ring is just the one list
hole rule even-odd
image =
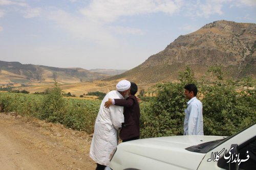
[[90, 143], [86, 132], [0, 113], [0, 170], [95, 169]]

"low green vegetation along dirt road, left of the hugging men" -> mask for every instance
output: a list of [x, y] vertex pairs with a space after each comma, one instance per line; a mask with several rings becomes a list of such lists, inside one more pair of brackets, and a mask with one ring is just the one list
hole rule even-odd
[[1, 112], [33, 116], [88, 133], [94, 130], [100, 103], [100, 100], [63, 98], [62, 90], [57, 84], [44, 94], [0, 93]]

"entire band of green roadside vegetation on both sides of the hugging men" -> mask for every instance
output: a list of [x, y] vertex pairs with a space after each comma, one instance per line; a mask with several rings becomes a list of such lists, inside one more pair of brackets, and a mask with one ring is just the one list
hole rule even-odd
[[[205, 135], [229, 136], [256, 123], [255, 80], [250, 77], [240, 81], [224, 80], [221, 67], [214, 66], [205, 77], [196, 81], [193, 71], [187, 67], [180, 72], [178, 83], [157, 84], [147, 91], [148, 95], [152, 93], [151, 97], [141, 97], [141, 138], [183, 134], [187, 102], [183, 92], [188, 83], [195, 83], [199, 89]], [[100, 92], [95, 93], [103, 96]], [[0, 92], [0, 111], [33, 116], [93, 133], [101, 100], [63, 98], [62, 94], [56, 83], [44, 94]]]

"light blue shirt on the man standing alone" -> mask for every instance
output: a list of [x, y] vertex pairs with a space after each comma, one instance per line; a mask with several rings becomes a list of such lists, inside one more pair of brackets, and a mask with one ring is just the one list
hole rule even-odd
[[185, 114], [184, 135], [204, 135], [203, 105], [196, 97], [187, 102]]

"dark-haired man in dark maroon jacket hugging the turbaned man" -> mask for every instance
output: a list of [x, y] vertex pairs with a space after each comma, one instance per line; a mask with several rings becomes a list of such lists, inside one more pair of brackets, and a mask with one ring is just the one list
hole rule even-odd
[[109, 99], [109, 101], [105, 102], [105, 107], [109, 107], [112, 104], [124, 106], [124, 123], [119, 134], [123, 142], [139, 139], [140, 136], [140, 107], [135, 96], [137, 91], [137, 85], [131, 82], [130, 96], [126, 100]]

